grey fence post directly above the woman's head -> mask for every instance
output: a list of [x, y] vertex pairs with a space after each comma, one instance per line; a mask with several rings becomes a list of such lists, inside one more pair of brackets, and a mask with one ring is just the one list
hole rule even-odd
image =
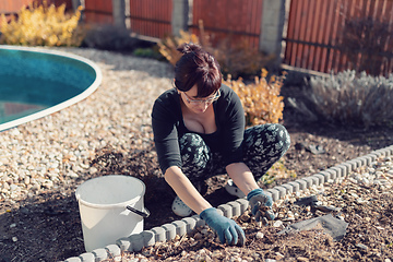
[[171, 31], [176, 36], [180, 35], [180, 31], [188, 29], [189, 1], [172, 0], [172, 17]]

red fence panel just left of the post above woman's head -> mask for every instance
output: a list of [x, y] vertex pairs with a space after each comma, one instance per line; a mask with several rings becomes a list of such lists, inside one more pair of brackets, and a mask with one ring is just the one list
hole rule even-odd
[[132, 32], [163, 38], [171, 34], [171, 0], [130, 0]]

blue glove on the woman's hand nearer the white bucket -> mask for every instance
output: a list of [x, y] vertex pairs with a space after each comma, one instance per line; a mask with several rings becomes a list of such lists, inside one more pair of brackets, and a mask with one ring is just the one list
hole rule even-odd
[[200, 217], [217, 233], [222, 243], [243, 246], [246, 242], [246, 235], [241, 227], [235, 221], [229, 219], [218, 214], [217, 210], [210, 207], [201, 212]]

